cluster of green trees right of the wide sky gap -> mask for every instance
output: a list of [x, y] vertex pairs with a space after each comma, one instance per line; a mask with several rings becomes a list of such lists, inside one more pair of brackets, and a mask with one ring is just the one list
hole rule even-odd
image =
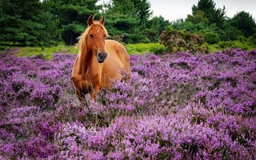
[[185, 20], [172, 22], [171, 26], [175, 30], [203, 34], [210, 44], [256, 36], [256, 23], [250, 13], [240, 11], [227, 18], [225, 6], [216, 8], [213, 0], [199, 0], [197, 6], [192, 6], [192, 14]]

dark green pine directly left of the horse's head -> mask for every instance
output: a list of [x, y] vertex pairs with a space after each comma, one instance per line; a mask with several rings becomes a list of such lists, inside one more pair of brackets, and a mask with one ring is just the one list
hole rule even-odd
[[62, 28], [62, 39], [66, 45], [74, 45], [77, 38], [86, 29], [86, 19], [97, 14], [102, 6], [98, 0], [47, 0], [51, 13], [59, 19]]

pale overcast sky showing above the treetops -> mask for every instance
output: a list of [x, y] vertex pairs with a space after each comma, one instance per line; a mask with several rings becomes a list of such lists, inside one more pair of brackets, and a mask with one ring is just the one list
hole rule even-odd
[[[109, 2], [110, 0], [101, 0]], [[192, 6], [198, 4], [198, 0], [148, 0], [153, 11], [153, 16], [162, 15], [166, 20], [175, 21], [186, 18], [192, 14]], [[225, 6], [226, 16], [232, 18], [239, 11], [249, 12], [256, 21], [256, 0], [214, 0], [216, 8]]]

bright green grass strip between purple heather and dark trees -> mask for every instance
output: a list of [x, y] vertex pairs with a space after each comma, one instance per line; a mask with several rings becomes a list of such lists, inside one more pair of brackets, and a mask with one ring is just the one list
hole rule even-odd
[[[127, 44], [126, 50], [129, 54], [145, 54], [154, 53], [162, 54], [166, 51], [166, 47], [160, 43], [137, 43], [137, 44]], [[218, 42], [218, 44], [210, 45], [205, 43], [203, 47], [210, 50], [210, 53], [214, 53], [217, 50], [225, 50], [231, 48], [241, 48], [242, 50], [254, 50], [255, 46], [248, 45], [246, 42]], [[0, 46], [1, 49], [1, 46]], [[7, 48], [2, 46], [2, 50]], [[50, 59], [54, 53], [70, 53], [78, 54], [78, 48], [76, 46], [65, 46], [64, 44], [59, 44], [58, 46], [50, 47], [37, 47], [37, 46], [22, 46], [19, 47], [18, 56], [42, 56], [43, 58]]]

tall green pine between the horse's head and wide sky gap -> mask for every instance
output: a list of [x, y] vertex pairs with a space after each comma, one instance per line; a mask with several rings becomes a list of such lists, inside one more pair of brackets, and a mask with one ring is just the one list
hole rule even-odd
[[147, 0], [112, 0], [104, 9], [106, 28], [111, 38], [126, 43], [150, 42], [148, 34], [145, 34], [149, 30], [147, 26], [151, 15]]

